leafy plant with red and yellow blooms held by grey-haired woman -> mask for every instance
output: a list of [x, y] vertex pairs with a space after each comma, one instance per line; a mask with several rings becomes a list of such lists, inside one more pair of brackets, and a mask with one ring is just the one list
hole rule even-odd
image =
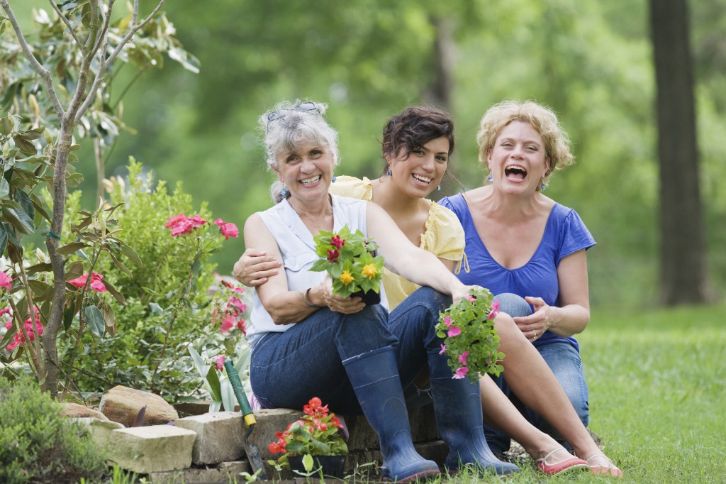
[[333, 294], [350, 297], [358, 291], [380, 291], [383, 257], [375, 256], [378, 244], [364, 238], [360, 230], [351, 233], [347, 225], [337, 234], [321, 230], [314, 241], [315, 251], [322, 259], [310, 270], [326, 270], [330, 274]]

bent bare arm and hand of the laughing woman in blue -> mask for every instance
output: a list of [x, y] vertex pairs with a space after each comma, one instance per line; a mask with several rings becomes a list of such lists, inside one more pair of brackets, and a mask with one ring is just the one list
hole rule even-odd
[[[534, 314], [514, 318], [517, 326], [530, 340], [537, 339], [547, 329], [558, 336], [572, 336], [582, 333], [590, 322], [587, 259], [584, 249], [563, 257], [557, 275], [562, 306], [548, 306], [541, 297], [525, 297], [526, 302], [534, 306]], [[532, 337], [535, 334], [537, 336]]]

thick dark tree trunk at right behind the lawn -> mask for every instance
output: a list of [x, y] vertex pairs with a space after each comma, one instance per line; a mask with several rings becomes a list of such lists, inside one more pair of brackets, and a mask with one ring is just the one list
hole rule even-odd
[[661, 301], [705, 302], [693, 62], [686, 0], [650, 0], [660, 164]]

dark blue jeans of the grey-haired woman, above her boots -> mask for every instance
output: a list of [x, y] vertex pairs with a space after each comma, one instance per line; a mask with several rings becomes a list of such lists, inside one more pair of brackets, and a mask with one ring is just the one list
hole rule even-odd
[[[438, 353], [439, 310], [452, 299], [423, 287], [391, 315], [380, 304], [353, 315], [323, 307], [282, 333], [269, 333], [255, 344], [250, 382], [265, 408], [303, 408], [312, 397], [337, 414], [362, 414], [343, 360], [393, 346], [403, 387]], [[442, 355], [442, 358], [445, 358]]]

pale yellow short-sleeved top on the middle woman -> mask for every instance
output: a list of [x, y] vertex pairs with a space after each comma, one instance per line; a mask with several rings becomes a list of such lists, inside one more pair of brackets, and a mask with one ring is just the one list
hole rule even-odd
[[[366, 177], [363, 177], [363, 180], [356, 177], [336, 177], [335, 183], [330, 184], [330, 193], [365, 201], [373, 200], [371, 182]], [[457, 262], [455, 273], [459, 273], [462, 260], [466, 257], [464, 254], [464, 229], [453, 211], [436, 202], [431, 202], [425, 230], [421, 234], [420, 248], [441, 259]], [[384, 267], [383, 287], [386, 289], [388, 298], [388, 310], [392, 311], [420, 286], [407, 281], [396, 273], [391, 273]]]

